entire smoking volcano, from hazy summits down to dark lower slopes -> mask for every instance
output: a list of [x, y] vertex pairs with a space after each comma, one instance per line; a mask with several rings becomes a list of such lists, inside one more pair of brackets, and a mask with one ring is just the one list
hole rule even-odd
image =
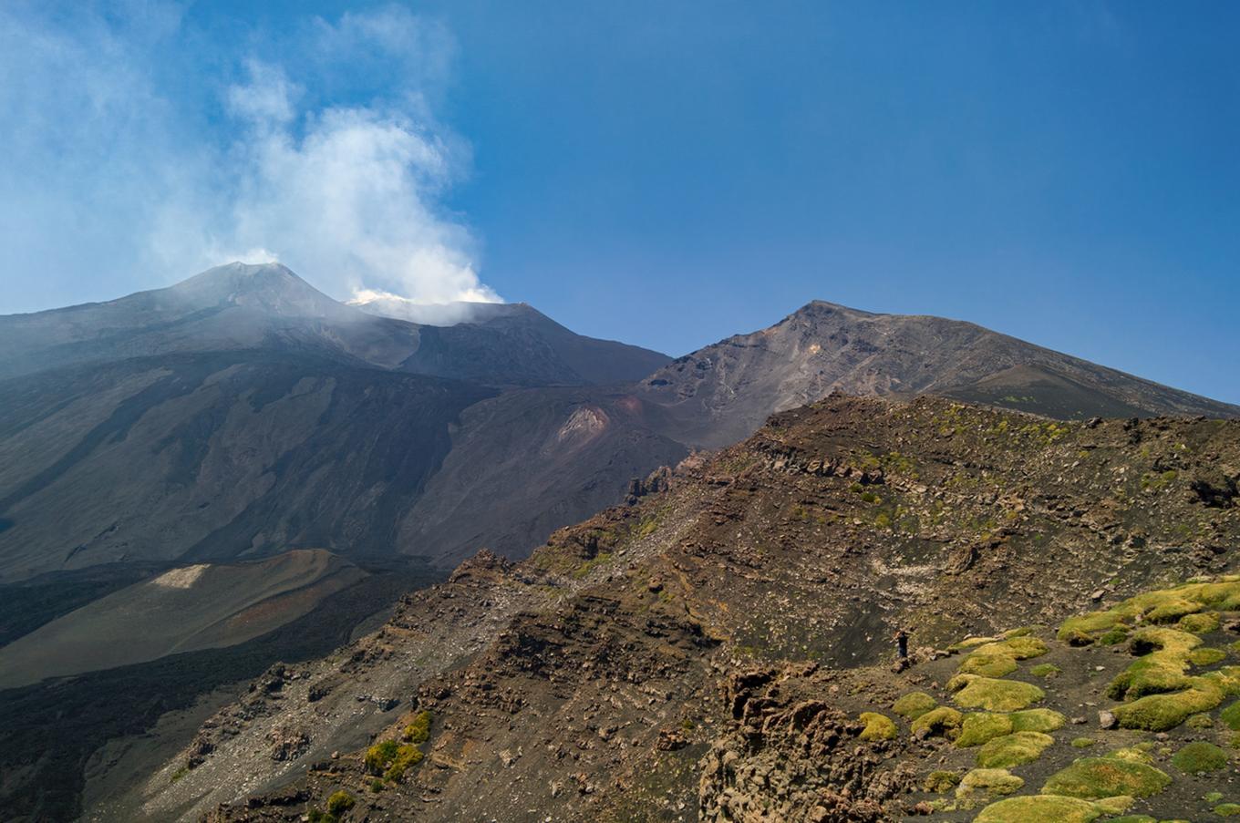
[[[525, 305], [464, 309], [471, 322], [418, 326], [339, 304], [280, 265], [231, 264], [169, 289], [0, 317], [0, 581], [298, 547], [440, 558], [476, 539], [520, 554], [683, 454], [621, 423], [575, 461], [527, 455], [484, 486], [441, 481], [435, 500], [481, 487], [491, 498], [419, 508], [435, 529], [412, 523], [470, 405], [505, 387], [634, 379], [668, 359]], [[501, 413], [501, 430], [472, 415], [487, 423], [465, 439], [487, 445], [467, 451], [465, 475], [494, 467], [490, 449], [564, 425], [577, 405], [557, 392], [515, 408], [544, 403], [559, 419]], [[441, 548], [448, 535], [456, 542]]]

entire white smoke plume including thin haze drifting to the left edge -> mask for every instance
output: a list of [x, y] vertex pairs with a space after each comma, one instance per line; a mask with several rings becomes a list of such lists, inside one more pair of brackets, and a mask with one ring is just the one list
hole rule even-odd
[[[471, 159], [433, 115], [454, 50], [440, 26], [393, 6], [252, 32], [239, 42], [263, 42], [260, 56], [206, 55], [188, 67], [218, 76], [195, 99], [162, 78], [177, 76], [167, 62], [201, 32], [186, 31], [172, 4], [125, 9], [67, 24], [37, 5], [0, 10], [0, 119], [25, 124], [0, 135], [12, 157], [0, 171], [12, 180], [0, 183], [40, 192], [24, 205], [27, 231], [0, 237], [16, 263], [58, 254], [72, 264], [58, 249], [86, 240], [81, 264], [102, 280], [160, 278], [135, 288], [229, 260], [279, 260], [332, 296], [393, 311], [498, 301], [479, 278], [476, 238], [443, 206]], [[52, 171], [22, 171], [38, 167]], [[0, 217], [12, 207], [0, 205]], [[56, 213], [93, 222], [107, 252], [91, 247], [89, 231], [67, 238]]]

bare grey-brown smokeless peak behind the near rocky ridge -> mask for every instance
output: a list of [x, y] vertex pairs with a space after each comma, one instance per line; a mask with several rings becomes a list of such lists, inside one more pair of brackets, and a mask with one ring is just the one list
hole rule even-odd
[[1159, 385], [968, 322], [877, 315], [815, 301], [769, 328], [665, 366], [642, 395], [686, 442], [735, 442], [769, 414], [851, 394], [941, 394], [1058, 418], [1204, 414], [1240, 407]]

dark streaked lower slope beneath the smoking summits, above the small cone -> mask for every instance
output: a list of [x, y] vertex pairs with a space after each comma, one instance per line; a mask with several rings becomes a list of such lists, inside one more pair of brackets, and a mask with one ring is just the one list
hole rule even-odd
[[0, 580], [321, 547], [396, 522], [495, 389], [281, 351], [169, 354], [0, 382]]

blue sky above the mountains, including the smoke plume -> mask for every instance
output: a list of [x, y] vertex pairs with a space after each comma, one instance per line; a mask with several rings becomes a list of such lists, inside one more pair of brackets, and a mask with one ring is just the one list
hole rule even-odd
[[0, 156], [0, 312], [278, 258], [672, 354], [936, 314], [1240, 403], [1236, 2], [9, 0]]

